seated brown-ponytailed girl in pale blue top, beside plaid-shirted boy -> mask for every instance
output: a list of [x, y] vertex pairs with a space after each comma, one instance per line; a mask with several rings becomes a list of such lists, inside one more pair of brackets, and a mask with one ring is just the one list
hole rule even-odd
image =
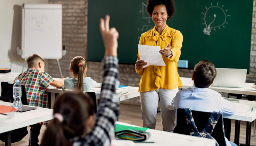
[[65, 78], [64, 86], [66, 89], [73, 90], [77, 88], [80, 91], [90, 91], [92, 87], [96, 87], [95, 80], [90, 77], [84, 77], [87, 65], [82, 56], [76, 56], [70, 61], [69, 70], [73, 74], [73, 78]]

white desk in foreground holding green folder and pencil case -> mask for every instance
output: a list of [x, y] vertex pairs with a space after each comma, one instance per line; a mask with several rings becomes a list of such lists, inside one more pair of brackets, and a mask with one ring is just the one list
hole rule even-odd
[[[127, 126], [134, 126], [122, 122], [116, 122]], [[137, 126], [138, 127], [138, 126]], [[147, 132], [151, 133], [151, 137], [145, 142], [154, 143], [135, 143], [135, 146], [215, 146], [215, 141], [211, 139], [203, 139], [196, 136], [148, 129]]]

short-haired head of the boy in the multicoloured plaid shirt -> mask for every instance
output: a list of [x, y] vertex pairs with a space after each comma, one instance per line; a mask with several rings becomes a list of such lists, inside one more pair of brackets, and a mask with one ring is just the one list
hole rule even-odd
[[45, 60], [40, 55], [37, 55], [37, 54], [30, 55], [27, 59], [27, 62], [28, 62], [28, 68], [35, 68], [39, 71], [44, 72]]

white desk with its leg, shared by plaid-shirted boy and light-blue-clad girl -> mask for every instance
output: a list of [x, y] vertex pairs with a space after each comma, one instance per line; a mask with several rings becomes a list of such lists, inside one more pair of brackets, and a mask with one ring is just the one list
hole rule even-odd
[[[127, 89], [124, 89], [124, 90], [127, 90]], [[122, 90], [120, 90], [120, 91], [122, 91]], [[138, 91], [139, 91], [139, 87], [128, 86], [128, 93], [126, 93], [124, 95], [118, 95], [118, 97], [120, 98], [120, 101], [124, 101], [126, 99], [130, 99], [130, 98], [140, 96], [140, 93]], [[55, 93], [59, 94], [59, 93], [62, 93], [63, 91], [62, 91], [61, 88], [56, 88], [56, 87], [53, 87], [53, 86], [49, 86], [47, 88], [47, 92], [51, 93], [51, 108], [53, 108], [54, 102], [55, 102]], [[99, 99], [100, 95], [96, 95], [96, 98]]]

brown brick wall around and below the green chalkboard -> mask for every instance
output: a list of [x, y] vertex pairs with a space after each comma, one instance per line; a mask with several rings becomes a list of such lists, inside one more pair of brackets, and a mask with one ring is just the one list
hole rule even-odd
[[[253, 23], [250, 73], [247, 74], [247, 82], [256, 82], [256, 0], [253, 2]], [[83, 56], [87, 59], [87, 16], [88, 0], [49, 0], [49, 3], [61, 3], [63, 9], [62, 43], [66, 46], [67, 54], [60, 59], [62, 72], [69, 75], [69, 63], [74, 56]], [[48, 61], [48, 72], [54, 77], [59, 77], [57, 62]], [[135, 60], [134, 60], [135, 62]], [[100, 62], [87, 62], [87, 76], [96, 81], [101, 81], [102, 67]], [[136, 74], [134, 65], [119, 64], [120, 84], [139, 86], [140, 75]], [[181, 77], [191, 77], [193, 70], [178, 69]], [[227, 96], [227, 94], [223, 94]], [[139, 97], [129, 99], [126, 103], [140, 104]]]

